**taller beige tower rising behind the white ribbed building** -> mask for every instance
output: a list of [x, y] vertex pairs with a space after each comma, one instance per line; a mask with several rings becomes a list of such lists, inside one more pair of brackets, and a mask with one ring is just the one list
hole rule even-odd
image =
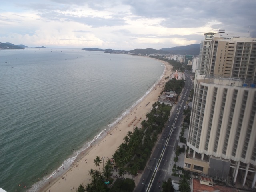
[[256, 83], [256, 38], [250, 38], [249, 33], [225, 33], [224, 30], [204, 36], [200, 46], [200, 74]]

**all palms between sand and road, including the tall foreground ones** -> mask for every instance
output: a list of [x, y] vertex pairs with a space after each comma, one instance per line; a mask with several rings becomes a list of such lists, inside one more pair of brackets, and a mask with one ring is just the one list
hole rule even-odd
[[[144, 150], [146, 145], [153, 146], [157, 141], [158, 134], [162, 131], [164, 124], [170, 115], [170, 106], [155, 102], [152, 105], [150, 113], [146, 114], [146, 120], [141, 122], [142, 128], [135, 127], [133, 132], [129, 131], [124, 136], [124, 142], [118, 146], [118, 149], [112, 155], [115, 165], [118, 167], [118, 175], [123, 176], [125, 171], [129, 171], [133, 177], [138, 174], [141, 164], [134, 159], [137, 158], [136, 153]], [[150, 151], [152, 148], [150, 149]], [[110, 159], [100, 169], [102, 160], [99, 156], [94, 159], [94, 164], [97, 169], [91, 169], [88, 174], [91, 178], [91, 183], [88, 183], [85, 188], [83, 185], [78, 187], [78, 192], [104, 192], [106, 191], [105, 180], [112, 176], [113, 165]]]

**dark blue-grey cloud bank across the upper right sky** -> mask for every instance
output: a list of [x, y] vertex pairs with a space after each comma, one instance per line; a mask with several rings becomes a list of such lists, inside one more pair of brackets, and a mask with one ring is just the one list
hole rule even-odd
[[218, 27], [244, 32], [249, 25], [255, 25], [256, 18], [255, 0], [126, 0], [124, 3], [132, 7], [134, 15], [164, 18], [161, 25], [168, 28], [201, 27], [216, 20], [222, 23]]

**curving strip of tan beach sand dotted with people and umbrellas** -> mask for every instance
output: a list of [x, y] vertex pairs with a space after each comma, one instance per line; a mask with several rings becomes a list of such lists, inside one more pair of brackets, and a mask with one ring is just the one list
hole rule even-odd
[[[112, 128], [102, 140], [92, 143], [92, 146], [84, 152], [81, 152], [74, 164], [62, 175], [62, 177], [50, 180], [50, 183], [41, 188], [40, 192], [48, 192], [49, 190], [51, 192], [76, 191], [76, 188], [78, 188], [80, 184], [86, 186], [87, 183], [90, 182], [90, 177], [88, 175], [89, 170], [91, 168], [98, 170], [98, 167], [93, 163], [95, 157], [104, 157], [104, 162], [106, 162], [108, 158], [112, 158], [112, 154], [114, 154], [118, 149], [118, 146], [124, 142], [123, 138], [126, 136], [127, 132], [132, 131], [133, 127], [140, 127], [141, 121], [146, 120], [146, 113], [150, 112], [152, 104], [158, 100], [158, 96], [163, 91], [165, 83], [170, 80], [165, 80], [164, 78], [167, 76], [170, 77], [172, 74], [172, 66], [168, 62], [162, 61], [162, 63], [166, 66], [165, 74], [144, 100], [135, 106], [130, 114], [115, 124], [114, 128]], [[136, 121], [131, 124], [135, 119]], [[133, 126], [136, 122], [138, 123]], [[100, 164], [100, 168], [103, 168], [103, 164]], [[140, 179], [140, 175], [141, 174], [138, 174], [138, 176], [134, 178], [136, 184]], [[131, 178], [130, 175], [129, 178]]]

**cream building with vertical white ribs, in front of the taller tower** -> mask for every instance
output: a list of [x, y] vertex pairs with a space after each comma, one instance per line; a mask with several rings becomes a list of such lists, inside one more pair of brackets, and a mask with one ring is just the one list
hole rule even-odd
[[256, 182], [256, 88], [242, 80], [199, 75], [184, 169], [236, 182]]

